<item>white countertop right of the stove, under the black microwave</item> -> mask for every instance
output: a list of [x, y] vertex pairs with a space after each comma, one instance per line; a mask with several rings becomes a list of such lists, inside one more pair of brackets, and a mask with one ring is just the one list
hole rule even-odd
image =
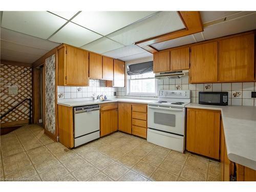
[[256, 170], [256, 106], [189, 103], [185, 107], [220, 110], [228, 159]]

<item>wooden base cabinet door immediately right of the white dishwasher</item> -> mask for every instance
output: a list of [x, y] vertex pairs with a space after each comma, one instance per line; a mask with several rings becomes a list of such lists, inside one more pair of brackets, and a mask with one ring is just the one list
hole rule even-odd
[[100, 137], [117, 131], [118, 111], [117, 109], [100, 112]]

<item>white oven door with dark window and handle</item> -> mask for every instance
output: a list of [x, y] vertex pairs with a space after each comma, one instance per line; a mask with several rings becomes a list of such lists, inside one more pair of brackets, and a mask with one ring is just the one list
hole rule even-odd
[[185, 108], [148, 105], [147, 126], [149, 129], [184, 136]]

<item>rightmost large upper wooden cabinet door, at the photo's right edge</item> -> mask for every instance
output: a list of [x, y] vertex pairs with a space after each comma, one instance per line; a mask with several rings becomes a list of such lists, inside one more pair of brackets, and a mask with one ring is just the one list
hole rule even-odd
[[254, 79], [254, 34], [219, 42], [219, 80]]

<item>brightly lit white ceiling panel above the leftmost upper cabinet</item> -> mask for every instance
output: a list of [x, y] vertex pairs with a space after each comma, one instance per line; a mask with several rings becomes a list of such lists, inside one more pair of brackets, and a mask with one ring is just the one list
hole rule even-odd
[[69, 44], [75, 47], [81, 47], [100, 37], [102, 36], [88, 29], [85, 29], [73, 23], [68, 23], [66, 26], [60, 29], [56, 34], [54, 34], [50, 38], [50, 40], [59, 42], [59, 43], [64, 42], [66, 44]]

